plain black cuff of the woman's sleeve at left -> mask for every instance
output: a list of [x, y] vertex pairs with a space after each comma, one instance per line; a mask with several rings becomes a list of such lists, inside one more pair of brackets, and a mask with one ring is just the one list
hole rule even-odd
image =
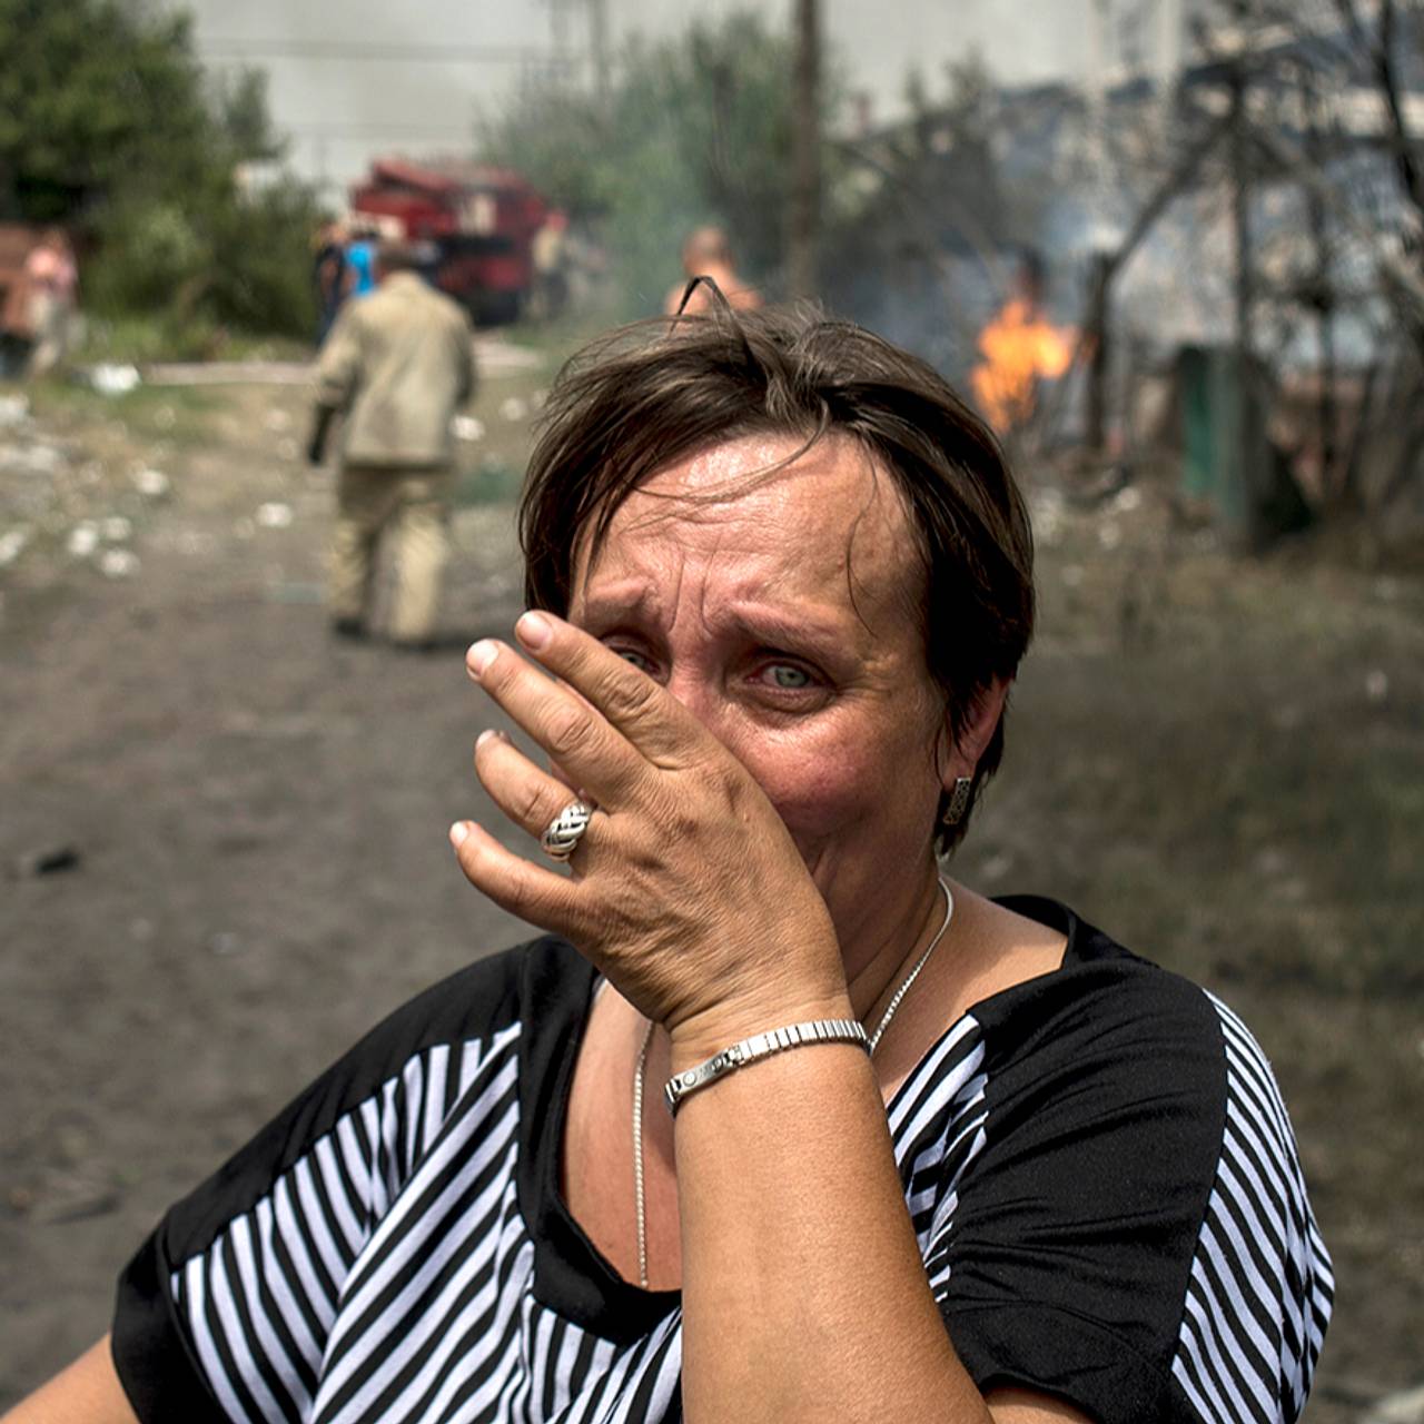
[[168, 1267], [150, 1236], [118, 1277], [114, 1368], [142, 1424], [226, 1424], [208, 1390], [168, 1293]]

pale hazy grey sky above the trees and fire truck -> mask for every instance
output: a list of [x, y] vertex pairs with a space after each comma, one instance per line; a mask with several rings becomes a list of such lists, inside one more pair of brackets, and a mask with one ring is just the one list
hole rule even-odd
[[[605, 3], [615, 41], [746, 9], [746, 0]], [[562, 6], [568, 43], [582, 47], [585, 3]], [[175, 7], [194, 13], [208, 63], [232, 63], [241, 50], [268, 70], [273, 118], [293, 138], [293, 167], [342, 185], [376, 152], [461, 147], [476, 104], [496, 104], [517, 84], [548, 50], [555, 26], [551, 0], [182, 0]], [[763, 10], [789, 17], [792, 3], [763, 0]], [[873, 95], [881, 118], [899, 110], [911, 64], [933, 87], [941, 64], [970, 47], [1008, 81], [1081, 73], [1089, 63], [1092, 0], [823, 0], [822, 13], [852, 85]], [[343, 44], [404, 53], [312, 53]]]

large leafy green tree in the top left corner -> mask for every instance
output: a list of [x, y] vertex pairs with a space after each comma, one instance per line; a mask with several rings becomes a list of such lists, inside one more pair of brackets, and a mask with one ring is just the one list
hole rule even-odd
[[0, 218], [80, 231], [91, 309], [310, 329], [312, 197], [238, 181], [283, 148], [265, 75], [211, 84], [187, 16], [125, 0], [0, 0]]

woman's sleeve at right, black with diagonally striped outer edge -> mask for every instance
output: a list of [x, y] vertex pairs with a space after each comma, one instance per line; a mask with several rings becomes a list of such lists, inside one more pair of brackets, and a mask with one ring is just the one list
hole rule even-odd
[[921, 1242], [975, 1383], [1104, 1424], [1292, 1424], [1330, 1267], [1240, 1021], [1119, 958], [1025, 987], [980, 1028], [981, 1106], [948, 1121], [981, 1125]]

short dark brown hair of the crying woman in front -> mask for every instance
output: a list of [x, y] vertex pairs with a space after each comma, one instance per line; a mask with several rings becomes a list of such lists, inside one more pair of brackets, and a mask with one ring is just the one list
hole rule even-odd
[[[812, 443], [827, 431], [857, 440], [904, 500], [924, 568], [926, 662], [958, 736], [991, 681], [1014, 676], [1032, 635], [1022, 497], [988, 427], [936, 370], [815, 309], [722, 302], [705, 316], [621, 328], [565, 365], [520, 504], [528, 607], [568, 611], [581, 541], [597, 550], [622, 501], [659, 470], [746, 434]], [[975, 800], [1002, 749], [1000, 722]], [[967, 822], [938, 826], [941, 854]]]

